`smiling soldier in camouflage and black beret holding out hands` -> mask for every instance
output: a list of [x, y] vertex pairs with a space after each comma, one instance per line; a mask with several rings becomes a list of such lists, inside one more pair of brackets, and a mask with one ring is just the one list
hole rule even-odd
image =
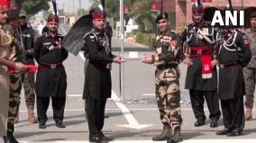
[[[160, 33], [155, 41], [156, 54], [145, 55], [142, 62], [156, 66], [156, 99], [160, 110], [163, 131], [152, 140], [182, 140], [180, 128], [182, 123], [180, 110], [180, 91], [178, 64], [184, 59], [180, 46], [180, 37], [169, 30], [169, 14], [160, 13], [156, 19]], [[172, 135], [172, 129], [174, 130]]]

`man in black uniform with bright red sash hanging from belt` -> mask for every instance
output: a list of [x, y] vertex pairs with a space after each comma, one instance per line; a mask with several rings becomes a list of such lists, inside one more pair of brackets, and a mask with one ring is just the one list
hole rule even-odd
[[204, 8], [200, 3], [193, 4], [192, 18], [193, 23], [187, 25], [182, 33], [182, 39], [187, 48], [185, 54], [187, 58], [184, 63], [187, 67], [187, 77], [185, 88], [189, 89], [192, 109], [197, 118], [195, 126], [205, 124], [206, 115], [204, 112], [204, 102], [210, 112], [210, 127], [218, 126], [221, 116], [219, 110], [217, 90], [217, 75], [215, 69], [215, 29], [204, 21]]

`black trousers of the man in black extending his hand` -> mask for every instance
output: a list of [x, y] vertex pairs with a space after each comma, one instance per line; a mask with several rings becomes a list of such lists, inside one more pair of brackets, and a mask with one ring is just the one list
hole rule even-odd
[[86, 102], [89, 138], [100, 137], [104, 126], [106, 99], [96, 100], [88, 95]]

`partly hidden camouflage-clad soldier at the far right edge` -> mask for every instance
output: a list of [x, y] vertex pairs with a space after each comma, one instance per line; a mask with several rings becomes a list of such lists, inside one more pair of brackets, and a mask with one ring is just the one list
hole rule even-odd
[[254, 103], [254, 91], [256, 85], [256, 12], [251, 13], [251, 29], [246, 30], [248, 38], [251, 41], [251, 61], [243, 68], [244, 80], [245, 80], [245, 94], [246, 94], [246, 113], [245, 120], [251, 121], [252, 115], [251, 110]]

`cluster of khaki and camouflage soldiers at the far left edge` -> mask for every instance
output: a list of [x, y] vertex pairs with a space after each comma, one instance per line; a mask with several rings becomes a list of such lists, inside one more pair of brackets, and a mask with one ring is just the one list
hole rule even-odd
[[[20, 15], [17, 4], [0, 1], [1, 23], [1, 137], [5, 142], [18, 142], [14, 138], [14, 122], [18, 121], [22, 86], [28, 108], [28, 120], [37, 122], [34, 116], [34, 72], [32, 54], [34, 31], [27, 26], [25, 15]], [[8, 67], [8, 69], [6, 68]], [[6, 124], [5, 124], [6, 122]]]

